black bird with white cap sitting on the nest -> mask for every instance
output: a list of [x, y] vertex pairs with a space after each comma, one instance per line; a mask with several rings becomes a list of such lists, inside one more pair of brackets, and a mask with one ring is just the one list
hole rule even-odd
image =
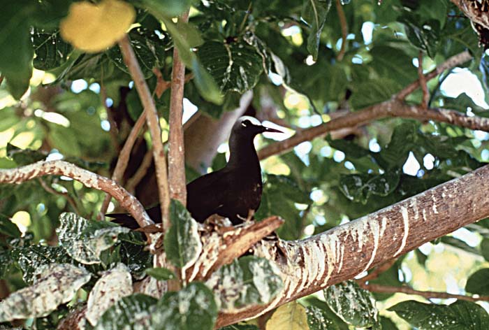
[[[254, 117], [243, 116], [233, 125], [229, 137], [230, 156], [224, 168], [196, 178], [187, 184], [187, 209], [197, 222], [203, 223], [211, 215], [227, 217], [240, 224], [258, 209], [261, 202], [261, 167], [254, 147], [256, 135], [264, 132], [283, 133], [265, 127]], [[159, 205], [147, 209], [149, 217], [161, 222]], [[112, 222], [138, 229], [131, 215], [108, 214]]]

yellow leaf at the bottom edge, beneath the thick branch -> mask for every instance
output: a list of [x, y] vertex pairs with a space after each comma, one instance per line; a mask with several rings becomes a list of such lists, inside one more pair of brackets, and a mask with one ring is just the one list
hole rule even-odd
[[268, 320], [266, 330], [309, 330], [304, 306], [295, 301], [280, 306]]

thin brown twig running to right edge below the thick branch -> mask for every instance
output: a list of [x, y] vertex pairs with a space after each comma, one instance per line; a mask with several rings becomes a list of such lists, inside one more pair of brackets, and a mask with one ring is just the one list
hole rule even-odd
[[390, 285], [379, 285], [379, 284], [365, 284], [363, 282], [359, 282], [358, 285], [363, 289], [366, 289], [370, 292], [381, 292], [385, 294], [416, 294], [418, 296], [423, 296], [427, 299], [436, 298], [436, 299], [460, 299], [465, 301], [489, 301], [489, 296], [464, 296], [462, 294], [449, 294], [447, 292], [434, 292], [434, 291], [420, 291], [415, 290], [411, 287], [402, 286], [402, 287], [393, 287]]

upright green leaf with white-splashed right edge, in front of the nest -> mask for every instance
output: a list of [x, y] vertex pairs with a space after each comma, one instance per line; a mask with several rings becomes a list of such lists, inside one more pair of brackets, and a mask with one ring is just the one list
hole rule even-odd
[[198, 225], [182, 203], [175, 200], [170, 203], [170, 222], [171, 227], [163, 241], [166, 257], [174, 266], [184, 270], [202, 250]]

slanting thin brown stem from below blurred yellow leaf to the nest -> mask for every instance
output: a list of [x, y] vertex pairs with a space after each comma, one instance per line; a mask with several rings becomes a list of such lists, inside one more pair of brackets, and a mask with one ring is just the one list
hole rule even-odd
[[[139, 97], [146, 111], [147, 126], [153, 142], [154, 167], [156, 169], [156, 181], [158, 183], [158, 192], [161, 206], [161, 216], [163, 223], [168, 221], [168, 208], [170, 206], [170, 195], [168, 194], [168, 173], [166, 172], [166, 158], [163, 143], [161, 141], [161, 129], [159, 127], [159, 117], [154, 105], [154, 100], [147, 87], [145, 77], [141, 72], [136, 55], [133, 52], [129, 37], [126, 35], [119, 41], [124, 62], [126, 63], [134, 85], [138, 90]], [[165, 227], [166, 228], [166, 227]]]

